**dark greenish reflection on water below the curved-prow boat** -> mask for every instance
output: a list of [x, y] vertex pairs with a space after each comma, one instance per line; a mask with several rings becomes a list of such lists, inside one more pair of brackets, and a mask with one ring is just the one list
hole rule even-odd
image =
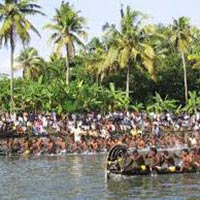
[[142, 176], [109, 181], [109, 199], [200, 199], [197, 174]]

